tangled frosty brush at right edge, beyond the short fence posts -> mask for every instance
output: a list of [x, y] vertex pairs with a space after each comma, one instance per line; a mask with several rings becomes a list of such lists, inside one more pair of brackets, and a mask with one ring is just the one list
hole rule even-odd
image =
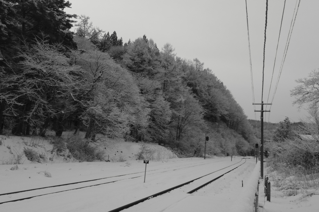
[[[305, 142], [295, 139], [266, 145], [270, 152], [268, 166], [270, 171], [276, 171], [274, 181], [278, 189], [319, 186], [318, 155], [307, 150]], [[277, 178], [282, 180], [277, 182]]]

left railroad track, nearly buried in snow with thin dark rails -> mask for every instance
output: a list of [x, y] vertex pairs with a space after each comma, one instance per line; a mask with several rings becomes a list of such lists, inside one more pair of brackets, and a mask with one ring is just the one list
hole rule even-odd
[[[147, 175], [176, 171], [176, 170], [184, 169], [184, 168], [203, 166], [203, 165], [208, 165], [208, 164], [216, 163], [216, 162], [220, 162], [220, 161], [214, 161], [214, 162], [204, 161], [204, 162], [193, 163], [188, 165], [149, 170], [147, 171]], [[163, 169], [166, 169], [166, 170], [163, 171]], [[33, 188], [33, 189], [27, 189], [23, 191], [8, 192], [8, 193], [0, 194], [0, 204], [8, 203], [8, 202], [16, 202], [16, 201], [31, 199], [33, 197], [55, 194], [55, 193], [60, 193], [60, 192], [65, 192], [70, 190], [98, 186], [98, 185], [108, 184], [108, 183], [122, 181], [122, 180], [134, 179], [137, 177], [144, 177], [144, 174], [142, 173], [144, 172], [122, 174], [122, 175], [105, 177], [100, 179], [72, 182], [72, 183], [66, 183], [66, 184], [60, 184], [60, 185], [54, 185], [54, 186], [48, 186], [48, 187], [42, 187], [42, 188]], [[130, 175], [130, 177], [127, 177], [128, 175]]]

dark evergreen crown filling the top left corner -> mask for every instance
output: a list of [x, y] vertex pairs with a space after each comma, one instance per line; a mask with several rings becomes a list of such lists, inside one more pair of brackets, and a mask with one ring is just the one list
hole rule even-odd
[[[66, 14], [64, 8], [71, 3], [64, 0], [2, 0], [0, 2], [0, 45], [17, 42], [20, 38], [32, 41], [35, 36], [48, 36], [51, 43], [63, 43], [75, 47], [72, 41], [71, 18], [77, 15]], [[18, 39], [17, 39], [18, 38]]]

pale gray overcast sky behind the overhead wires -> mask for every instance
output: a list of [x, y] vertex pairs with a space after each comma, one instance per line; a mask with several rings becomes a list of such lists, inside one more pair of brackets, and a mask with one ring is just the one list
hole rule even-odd
[[[116, 31], [123, 42], [144, 34], [159, 50], [165, 43], [175, 48], [178, 57], [204, 62], [232, 92], [249, 119], [254, 113], [245, 0], [69, 0], [70, 14], [90, 17], [93, 26]], [[263, 43], [266, 0], [247, 0], [249, 37], [255, 103], [261, 103]], [[276, 65], [268, 103], [271, 102], [283, 58], [296, 0], [286, 0]], [[263, 101], [267, 102], [284, 0], [269, 0], [266, 31]], [[295, 80], [319, 68], [319, 1], [301, 0], [278, 88], [266, 120], [279, 122], [289, 117], [299, 121], [307, 113], [292, 106], [290, 90]], [[260, 110], [260, 106], [256, 106]], [[267, 107], [269, 110], [269, 106]]]

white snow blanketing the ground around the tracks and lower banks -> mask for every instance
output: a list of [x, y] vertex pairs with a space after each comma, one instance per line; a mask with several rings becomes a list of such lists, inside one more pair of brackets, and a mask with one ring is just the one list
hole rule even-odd
[[[42, 140], [40, 143], [42, 143]], [[52, 148], [49, 141], [44, 140], [43, 144], [46, 145], [45, 148], [37, 146], [39, 148], [37, 151], [40, 152], [40, 148], [44, 151]], [[100, 180], [19, 194], [0, 195], [0, 202], [42, 195], [23, 201], [0, 204], [0, 211], [105, 212], [205, 174], [209, 175], [123, 211], [253, 211], [260, 162], [256, 165], [253, 158], [241, 159], [240, 157], [235, 157], [232, 161], [230, 157], [215, 157], [206, 160], [203, 158], [172, 158], [174, 155], [165, 147], [149, 144], [152, 145], [152, 148], [160, 148], [163, 156], [161, 159], [151, 160], [147, 164], [146, 181], [144, 183], [145, 164], [143, 161], [136, 161], [135, 156], [133, 156], [137, 153], [139, 145], [139, 143], [133, 142], [117, 142], [112, 148], [107, 147], [105, 149], [110, 157], [122, 151], [123, 157], [127, 160], [124, 162], [66, 162], [60, 156], [60, 158], [55, 157], [54, 161], [43, 164], [25, 161], [24, 164], [18, 164], [17, 170], [11, 170], [15, 165], [1, 165], [1, 194], [92, 179]], [[8, 155], [3, 154], [4, 151], [8, 152], [7, 146], [11, 146], [11, 149], [15, 151], [20, 151], [19, 148], [25, 147], [22, 138], [7, 137], [4, 140], [4, 145], [0, 146], [1, 160], [7, 160]], [[238, 165], [241, 166], [204, 188], [192, 194], [187, 194], [190, 190]], [[51, 177], [46, 177], [44, 172], [50, 173]], [[92, 186], [96, 184], [100, 185]], [[90, 187], [75, 189], [85, 186]], [[314, 190], [313, 194], [316, 194], [316, 192], [318, 193], [317, 190]], [[317, 211], [319, 206], [318, 197], [319, 195], [309, 195], [302, 198], [300, 194], [282, 198], [279, 191], [272, 190], [271, 202], [267, 202], [264, 198], [263, 181], [261, 180], [259, 185], [259, 211]]]

